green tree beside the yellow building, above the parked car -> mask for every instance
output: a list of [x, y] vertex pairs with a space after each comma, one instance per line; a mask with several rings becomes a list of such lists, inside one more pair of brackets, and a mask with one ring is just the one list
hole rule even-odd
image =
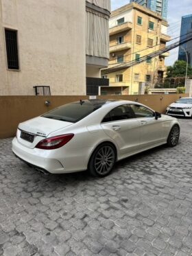
[[[187, 62], [184, 60], [177, 60], [173, 67], [167, 67], [167, 78], [184, 77], [186, 73]], [[187, 76], [192, 75], [192, 67], [188, 65]]]

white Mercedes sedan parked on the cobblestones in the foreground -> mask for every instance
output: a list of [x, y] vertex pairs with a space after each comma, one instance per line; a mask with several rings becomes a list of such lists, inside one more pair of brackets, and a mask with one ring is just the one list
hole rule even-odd
[[12, 151], [37, 170], [88, 170], [108, 175], [116, 161], [167, 143], [176, 146], [174, 117], [125, 100], [80, 100], [19, 124]]

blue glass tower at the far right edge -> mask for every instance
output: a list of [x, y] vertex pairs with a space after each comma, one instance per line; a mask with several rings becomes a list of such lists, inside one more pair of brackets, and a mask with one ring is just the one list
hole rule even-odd
[[[180, 40], [187, 38], [189, 34], [192, 34], [192, 14], [182, 16], [180, 27]], [[178, 60], [184, 60], [192, 66], [192, 41], [184, 43], [179, 47]]]

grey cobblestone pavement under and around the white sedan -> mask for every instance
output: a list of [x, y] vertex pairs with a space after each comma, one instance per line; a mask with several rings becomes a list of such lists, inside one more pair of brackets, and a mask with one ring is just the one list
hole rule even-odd
[[192, 255], [192, 120], [176, 148], [117, 163], [106, 178], [43, 175], [0, 141], [0, 255]]

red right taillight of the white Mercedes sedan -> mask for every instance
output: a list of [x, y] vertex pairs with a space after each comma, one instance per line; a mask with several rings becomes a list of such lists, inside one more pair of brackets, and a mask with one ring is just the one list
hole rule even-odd
[[70, 133], [68, 135], [59, 135], [43, 139], [42, 141], [39, 141], [39, 143], [36, 145], [36, 148], [40, 148], [42, 150], [55, 150], [56, 148], [64, 146], [73, 138], [73, 136], [73, 133]]

